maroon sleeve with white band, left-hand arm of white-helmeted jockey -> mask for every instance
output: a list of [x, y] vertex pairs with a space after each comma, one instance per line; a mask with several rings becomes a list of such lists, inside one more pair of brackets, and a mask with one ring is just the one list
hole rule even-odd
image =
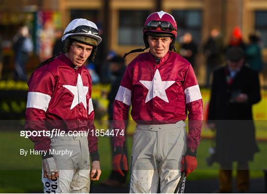
[[[25, 130], [47, 131], [45, 127], [45, 112], [53, 94], [53, 75], [45, 70], [35, 71], [29, 79], [28, 99], [25, 116]], [[35, 150], [50, 149], [50, 139], [41, 133], [39, 136], [29, 137], [35, 144]]]

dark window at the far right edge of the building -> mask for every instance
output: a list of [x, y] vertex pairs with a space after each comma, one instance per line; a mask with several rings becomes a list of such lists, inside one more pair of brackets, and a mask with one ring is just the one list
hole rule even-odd
[[255, 30], [261, 33], [264, 47], [267, 47], [267, 11], [255, 12]]

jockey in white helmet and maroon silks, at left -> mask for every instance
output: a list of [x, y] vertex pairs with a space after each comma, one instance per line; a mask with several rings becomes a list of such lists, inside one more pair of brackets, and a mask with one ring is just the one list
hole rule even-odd
[[[63, 53], [42, 62], [28, 81], [25, 129], [65, 132], [30, 137], [35, 150], [43, 151], [44, 193], [89, 193], [90, 180], [99, 180], [91, 77], [84, 63], [88, 58], [93, 61], [101, 40], [93, 22], [71, 21], [62, 37]], [[58, 155], [52, 150], [72, 153]]]

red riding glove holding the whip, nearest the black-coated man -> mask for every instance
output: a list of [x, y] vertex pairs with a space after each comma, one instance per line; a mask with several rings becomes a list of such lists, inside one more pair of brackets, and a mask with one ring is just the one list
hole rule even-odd
[[193, 172], [197, 167], [196, 150], [188, 148], [181, 161], [181, 171], [185, 171], [185, 176]]

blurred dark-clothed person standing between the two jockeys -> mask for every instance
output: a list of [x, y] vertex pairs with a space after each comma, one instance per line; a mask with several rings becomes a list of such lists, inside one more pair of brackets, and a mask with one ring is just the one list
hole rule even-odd
[[[109, 64], [109, 69], [112, 75], [112, 80], [111, 80], [111, 89], [108, 94], [108, 117], [109, 117], [109, 129], [112, 129], [112, 120], [113, 120], [113, 102], [115, 100], [115, 97], [117, 95], [117, 92], [119, 90], [124, 72], [126, 70], [126, 65], [125, 65], [125, 60], [119, 55], [115, 55], [111, 58], [108, 59], [108, 64]], [[127, 128], [128, 123], [126, 124]], [[125, 132], [125, 142], [123, 144], [123, 151], [124, 154], [127, 157], [127, 136]], [[111, 141], [112, 145], [112, 141]], [[113, 145], [112, 147], [113, 148]], [[122, 170], [125, 175], [127, 175], [127, 171]], [[107, 181], [104, 181], [102, 184], [107, 185], [107, 186], [113, 186], [113, 187], [118, 187], [118, 186], [126, 186], [126, 181], [127, 181], [127, 176], [121, 176], [120, 174], [116, 173], [114, 170], [112, 170], [109, 179]]]

